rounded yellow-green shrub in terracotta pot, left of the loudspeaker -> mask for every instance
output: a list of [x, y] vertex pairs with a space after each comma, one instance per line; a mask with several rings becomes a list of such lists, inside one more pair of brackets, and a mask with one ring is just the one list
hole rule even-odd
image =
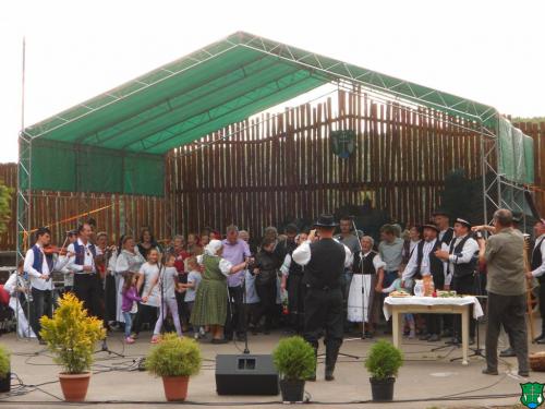
[[194, 339], [169, 333], [149, 351], [146, 369], [162, 376], [167, 400], [185, 400], [190, 376], [198, 373], [201, 362], [201, 348]]

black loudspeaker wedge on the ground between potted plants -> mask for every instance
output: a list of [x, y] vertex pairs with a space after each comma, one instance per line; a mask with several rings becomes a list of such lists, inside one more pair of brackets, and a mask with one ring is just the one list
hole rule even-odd
[[266, 354], [216, 357], [218, 395], [278, 395], [278, 372]]

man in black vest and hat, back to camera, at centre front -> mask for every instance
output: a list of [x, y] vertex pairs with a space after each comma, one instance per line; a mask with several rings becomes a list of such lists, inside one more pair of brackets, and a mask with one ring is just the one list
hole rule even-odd
[[[306, 285], [304, 302], [304, 338], [317, 356], [318, 340], [325, 332], [326, 381], [334, 381], [335, 364], [342, 345], [342, 275], [344, 267], [352, 264], [350, 250], [334, 239], [337, 224], [331, 215], [322, 215], [315, 227], [319, 240], [314, 241], [316, 231], [308, 240], [293, 251], [293, 261], [305, 266], [303, 282]], [[316, 373], [311, 381], [316, 380]]]

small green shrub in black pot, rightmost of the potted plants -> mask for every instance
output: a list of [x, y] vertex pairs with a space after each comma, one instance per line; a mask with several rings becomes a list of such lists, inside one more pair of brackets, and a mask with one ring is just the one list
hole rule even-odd
[[371, 393], [375, 401], [393, 399], [393, 383], [398, 370], [403, 364], [403, 354], [386, 340], [376, 342], [365, 360], [365, 368], [371, 373]]

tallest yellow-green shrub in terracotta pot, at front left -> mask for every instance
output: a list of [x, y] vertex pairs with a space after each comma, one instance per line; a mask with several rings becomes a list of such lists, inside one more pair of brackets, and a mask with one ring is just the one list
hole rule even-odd
[[40, 336], [63, 368], [59, 374], [66, 401], [82, 401], [87, 395], [95, 344], [104, 339], [102, 321], [87, 315], [83, 302], [68, 292], [59, 299], [53, 317], [40, 318]]

